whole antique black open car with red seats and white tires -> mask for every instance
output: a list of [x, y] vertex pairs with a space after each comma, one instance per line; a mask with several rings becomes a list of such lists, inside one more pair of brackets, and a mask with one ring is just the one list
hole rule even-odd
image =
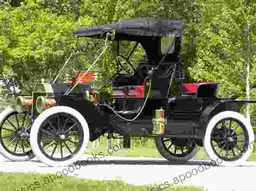
[[[114, 103], [79, 81], [70, 85], [55, 79], [35, 85], [32, 96], [19, 96], [16, 109], [0, 114], [0, 152], [13, 161], [37, 156], [49, 166], [65, 166], [80, 158], [88, 140], [107, 132], [125, 140], [151, 137], [168, 160], [192, 159], [199, 147], [224, 165], [248, 160], [254, 133], [239, 110], [250, 101], [217, 97], [216, 82], [184, 83], [182, 33], [182, 20], [153, 18], [74, 31], [75, 37], [105, 39], [106, 47], [109, 41], [117, 41], [117, 46], [122, 40], [135, 41], [146, 51], [147, 60], [134, 68], [118, 53], [117, 73], [110, 79]], [[163, 52], [161, 45], [168, 38], [172, 43]], [[131, 74], [121, 73], [120, 58], [133, 68]], [[171, 97], [174, 79], [177, 96]]]

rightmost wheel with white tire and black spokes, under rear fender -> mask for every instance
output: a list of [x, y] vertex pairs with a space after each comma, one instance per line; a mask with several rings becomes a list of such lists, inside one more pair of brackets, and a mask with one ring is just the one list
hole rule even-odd
[[239, 166], [250, 157], [253, 141], [253, 128], [247, 119], [237, 112], [224, 111], [211, 118], [203, 144], [214, 164]]

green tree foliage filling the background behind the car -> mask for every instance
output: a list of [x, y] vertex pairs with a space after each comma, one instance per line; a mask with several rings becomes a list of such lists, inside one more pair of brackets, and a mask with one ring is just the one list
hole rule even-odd
[[[256, 4], [243, 0], [0, 0], [0, 73], [19, 79], [23, 92], [31, 92], [41, 77], [52, 79], [75, 48], [66, 71], [89, 66], [104, 42], [77, 38], [73, 30], [135, 17], [158, 17], [184, 21], [182, 51], [190, 80], [221, 82], [221, 95], [245, 92], [243, 35], [250, 25], [251, 82], [255, 81]], [[133, 47], [123, 44], [123, 54]], [[116, 52], [104, 54], [98, 65], [103, 74], [114, 73]], [[127, 51], [126, 51], [127, 50]], [[126, 51], [126, 52], [125, 52]], [[139, 48], [132, 59], [142, 59]], [[7, 70], [6, 70], [7, 69]], [[11, 70], [12, 73], [6, 73]], [[62, 76], [61, 76], [62, 77]], [[226, 95], [227, 93], [227, 95]]]

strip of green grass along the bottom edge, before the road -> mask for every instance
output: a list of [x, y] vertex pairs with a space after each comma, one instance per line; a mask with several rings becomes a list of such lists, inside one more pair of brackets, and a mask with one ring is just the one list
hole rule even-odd
[[[0, 190], [7, 191], [139, 191], [153, 186], [134, 186], [121, 181], [56, 178], [53, 174], [0, 173]], [[53, 180], [53, 181], [51, 181]], [[162, 187], [161, 187], [162, 188]], [[165, 191], [203, 191], [195, 187], [166, 188]]]

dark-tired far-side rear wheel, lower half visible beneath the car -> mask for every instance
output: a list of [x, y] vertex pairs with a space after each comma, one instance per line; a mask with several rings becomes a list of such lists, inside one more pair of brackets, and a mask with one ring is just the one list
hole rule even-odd
[[[169, 161], [188, 161], [189, 159], [194, 158], [199, 150], [199, 147], [195, 141], [191, 139], [181, 139], [179, 142], [184, 144], [186, 141], [188, 141], [187, 144], [177, 146], [178, 144], [175, 144], [175, 140], [170, 138], [156, 137], [155, 145], [163, 158]], [[169, 145], [168, 142], [170, 142]]]

